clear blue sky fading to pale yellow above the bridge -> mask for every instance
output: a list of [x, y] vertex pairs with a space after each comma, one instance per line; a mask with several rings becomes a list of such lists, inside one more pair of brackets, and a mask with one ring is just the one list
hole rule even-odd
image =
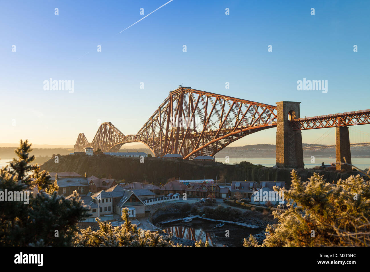
[[[91, 141], [99, 120], [135, 134], [181, 83], [301, 101], [301, 117], [370, 108], [370, 1], [174, 0], [118, 34], [140, 8], [167, 1], [2, 1], [0, 142], [73, 145], [80, 132]], [[328, 92], [297, 91], [304, 77], [327, 80]], [[74, 80], [74, 93], [44, 90], [49, 78]], [[303, 142], [325, 131], [304, 131]], [[275, 144], [275, 132], [233, 145]]]

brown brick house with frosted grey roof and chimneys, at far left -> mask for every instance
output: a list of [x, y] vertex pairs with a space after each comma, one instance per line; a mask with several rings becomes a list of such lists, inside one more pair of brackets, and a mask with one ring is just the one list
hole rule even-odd
[[55, 174], [54, 185], [59, 187], [58, 195], [68, 196], [77, 191], [80, 195], [86, 195], [90, 190], [90, 185], [87, 181], [87, 177], [59, 177], [58, 174]]

